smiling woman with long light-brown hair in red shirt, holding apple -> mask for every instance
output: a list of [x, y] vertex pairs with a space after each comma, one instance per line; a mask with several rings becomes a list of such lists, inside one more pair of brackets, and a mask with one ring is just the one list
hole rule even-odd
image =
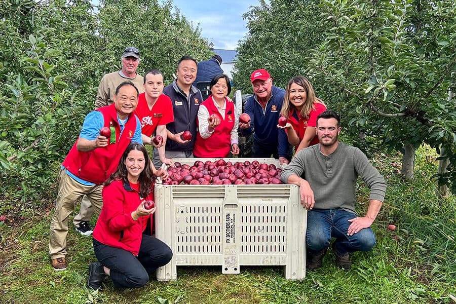
[[296, 76], [288, 82], [280, 112], [287, 119], [287, 124], [277, 127], [285, 129], [288, 142], [294, 145], [295, 153], [318, 143], [317, 117], [325, 110], [326, 105], [315, 96], [314, 88], [307, 78]]

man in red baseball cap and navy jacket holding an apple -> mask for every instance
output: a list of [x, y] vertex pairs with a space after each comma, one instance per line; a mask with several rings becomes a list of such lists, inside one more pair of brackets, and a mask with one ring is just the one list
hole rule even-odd
[[253, 87], [244, 112], [250, 116], [247, 124], [239, 123], [243, 135], [253, 134], [252, 156], [254, 158], [279, 159], [280, 164], [288, 164], [292, 151], [284, 130], [277, 128], [285, 91], [272, 84], [270, 73], [257, 69], [250, 75]]

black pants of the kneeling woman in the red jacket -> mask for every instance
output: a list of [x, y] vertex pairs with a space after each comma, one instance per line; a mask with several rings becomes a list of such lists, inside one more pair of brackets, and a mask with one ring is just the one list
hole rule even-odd
[[131, 252], [104, 245], [93, 239], [93, 249], [98, 261], [110, 269], [114, 288], [138, 288], [154, 277], [158, 267], [172, 258], [171, 248], [151, 236], [142, 235], [138, 256]]

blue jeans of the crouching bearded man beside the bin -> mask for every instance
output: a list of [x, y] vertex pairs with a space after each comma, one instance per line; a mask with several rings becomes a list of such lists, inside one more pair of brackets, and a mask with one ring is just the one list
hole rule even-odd
[[347, 235], [355, 213], [339, 209], [314, 209], [307, 215], [307, 251], [319, 255], [329, 247], [331, 238], [336, 240], [333, 247], [340, 256], [355, 251], [370, 251], [375, 246], [375, 236], [370, 227], [364, 228], [353, 236]]

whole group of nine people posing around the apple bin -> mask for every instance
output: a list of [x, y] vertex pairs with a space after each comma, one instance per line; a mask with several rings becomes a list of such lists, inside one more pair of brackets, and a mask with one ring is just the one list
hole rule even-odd
[[[151, 69], [143, 77], [136, 72], [136, 48], [126, 48], [121, 60], [121, 70], [102, 78], [96, 109], [85, 118], [61, 166], [49, 240], [55, 270], [67, 268], [68, 218], [82, 198], [73, 223], [81, 234], [93, 233], [97, 257], [89, 265], [88, 286], [99, 289], [106, 277], [116, 288], [144, 286], [172, 258], [172, 250], [152, 236], [156, 208], [144, 205], [154, 200], [155, 178], [168, 176], [161, 165], [174, 166], [174, 158], [238, 155], [238, 131], [254, 132], [253, 158], [274, 157], [288, 164], [281, 180], [300, 186], [301, 203], [308, 209], [309, 270], [321, 267], [333, 237], [340, 268], [350, 268], [349, 253], [372, 249], [370, 225], [382, 206], [385, 180], [359, 149], [339, 143], [340, 119], [326, 110], [308, 79], [293, 77], [283, 90], [273, 85], [267, 70], [253, 71], [254, 94], [244, 109], [250, 121], [240, 123], [225, 74], [212, 78], [211, 95], [202, 100], [193, 85], [198, 63], [192, 57], [179, 60], [177, 78], [166, 87], [160, 70]], [[281, 116], [287, 120], [284, 126], [278, 124]], [[100, 135], [103, 127], [110, 136]], [[145, 144], [154, 146], [153, 160]], [[364, 217], [355, 212], [358, 175], [371, 189]], [[94, 213], [98, 220], [92, 231]]]

